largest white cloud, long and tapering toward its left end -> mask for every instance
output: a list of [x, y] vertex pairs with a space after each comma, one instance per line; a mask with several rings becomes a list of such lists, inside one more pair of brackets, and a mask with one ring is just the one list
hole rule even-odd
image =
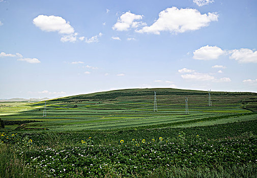
[[162, 31], [168, 31], [177, 34], [195, 31], [208, 26], [211, 21], [218, 21], [217, 13], [201, 14], [196, 9], [172, 7], [161, 11], [159, 18], [151, 26], [144, 26], [136, 32], [159, 35]]

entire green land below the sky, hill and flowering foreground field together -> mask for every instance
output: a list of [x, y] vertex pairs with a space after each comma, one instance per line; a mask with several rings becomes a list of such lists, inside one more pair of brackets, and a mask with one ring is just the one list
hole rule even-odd
[[256, 177], [257, 94], [211, 96], [101, 92], [48, 100], [46, 117], [44, 101], [1, 102], [0, 176]]

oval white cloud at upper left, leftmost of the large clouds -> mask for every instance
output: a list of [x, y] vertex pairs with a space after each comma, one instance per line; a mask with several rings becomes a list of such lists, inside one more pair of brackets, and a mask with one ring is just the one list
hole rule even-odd
[[70, 22], [59, 16], [39, 15], [33, 19], [33, 23], [42, 31], [58, 32], [60, 34], [73, 34], [74, 28]]

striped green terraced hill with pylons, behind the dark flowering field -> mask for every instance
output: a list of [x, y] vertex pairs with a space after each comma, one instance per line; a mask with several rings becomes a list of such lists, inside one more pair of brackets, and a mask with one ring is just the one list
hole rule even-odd
[[[158, 112], [153, 112], [154, 91]], [[185, 97], [189, 114], [185, 114]], [[99, 92], [48, 100], [47, 117], [42, 117], [44, 101], [1, 102], [0, 117], [6, 124], [36, 120], [23, 129], [103, 130], [129, 127], [186, 127], [253, 120], [257, 94], [248, 92], [208, 92], [174, 88], [145, 88]], [[23, 122], [25, 123], [25, 122]], [[17, 125], [8, 125], [14, 129]]]

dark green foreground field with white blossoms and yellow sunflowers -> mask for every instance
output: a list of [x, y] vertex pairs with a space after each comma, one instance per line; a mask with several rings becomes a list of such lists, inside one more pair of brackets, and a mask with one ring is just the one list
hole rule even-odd
[[5, 133], [2, 177], [256, 177], [256, 125]]

